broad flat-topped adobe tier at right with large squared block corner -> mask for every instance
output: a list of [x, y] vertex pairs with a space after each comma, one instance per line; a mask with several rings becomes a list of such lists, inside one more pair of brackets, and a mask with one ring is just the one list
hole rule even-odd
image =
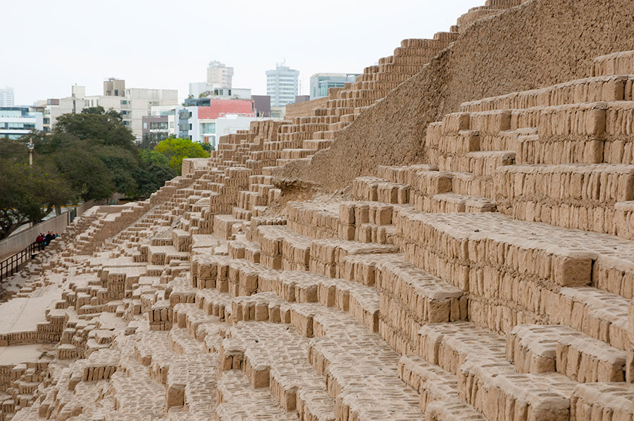
[[[406, 260], [469, 291], [478, 325], [510, 332], [523, 323], [572, 324], [626, 349], [628, 299], [612, 291], [634, 279], [633, 241], [497, 213], [405, 210], [394, 220]], [[502, 306], [516, 315], [501, 319]]]

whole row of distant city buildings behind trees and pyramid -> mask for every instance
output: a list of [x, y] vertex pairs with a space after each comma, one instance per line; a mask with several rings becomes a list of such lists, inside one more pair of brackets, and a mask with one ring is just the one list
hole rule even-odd
[[310, 78], [309, 95], [299, 95], [299, 70], [277, 63], [266, 70], [266, 95], [252, 95], [251, 89], [233, 87], [234, 69], [210, 61], [204, 82], [190, 82], [188, 96], [179, 103], [175, 89], [126, 87], [125, 80], [104, 80], [101, 95], [87, 95], [83, 86], [70, 87], [70, 96], [15, 105], [13, 87], [0, 89], [0, 137], [19, 139], [30, 130], [50, 132], [66, 113], [101, 106], [120, 113], [123, 124], [137, 142], [160, 142], [168, 137], [191, 139], [216, 147], [218, 138], [248, 130], [251, 121], [283, 119], [286, 106], [328, 96], [330, 88], [342, 88], [355, 81], [356, 73], [316, 73]]

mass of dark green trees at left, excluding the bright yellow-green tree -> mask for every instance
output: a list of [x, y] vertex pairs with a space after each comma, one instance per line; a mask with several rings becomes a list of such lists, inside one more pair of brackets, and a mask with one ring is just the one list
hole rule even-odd
[[[26, 145], [35, 144], [28, 165]], [[0, 139], [0, 239], [52, 209], [115, 193], [145, 199], [179, 174], [156, 151], [139, 151], [120, 113], [101, 106], [58, 118], [49, 134]]]

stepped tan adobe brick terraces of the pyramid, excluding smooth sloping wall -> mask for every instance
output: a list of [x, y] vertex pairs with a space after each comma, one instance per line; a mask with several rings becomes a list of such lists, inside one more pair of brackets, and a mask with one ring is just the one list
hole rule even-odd
[[277, 176], [521, 3], [77, 218], [3, 286], [0, 421], [632, 421], [634, 51], [462, 103], [416, 165]]

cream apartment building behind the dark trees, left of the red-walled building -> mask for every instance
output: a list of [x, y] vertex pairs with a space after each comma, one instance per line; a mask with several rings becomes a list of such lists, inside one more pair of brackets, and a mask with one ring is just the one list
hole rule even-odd
[[[116, 87], [116, 94], [113, 87]], [[123, 115], [123, 124], [132, 130], [137, 142], [142, 139], [142, 119], [151, 115], [152, 107], [175, 105], [178, 105], [178, 91], [175, 89], [125, 88], [125, 80], [112, 78], [104, 82], [104, 95], [87, 96], [85, 87], [74, 86], [71, 96], [37, 101], [37, 108], [44, 113], [46, 132], [51, 130], [60, 115], [81, 113], [84, 108], [102, 106]]]

